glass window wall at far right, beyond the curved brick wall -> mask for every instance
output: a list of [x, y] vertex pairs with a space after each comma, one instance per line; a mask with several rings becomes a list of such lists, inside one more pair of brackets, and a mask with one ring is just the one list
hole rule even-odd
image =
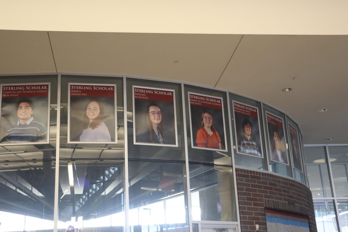
[[348, 231], [348, 146], [306, 145], [308, 181], [318, 232]]

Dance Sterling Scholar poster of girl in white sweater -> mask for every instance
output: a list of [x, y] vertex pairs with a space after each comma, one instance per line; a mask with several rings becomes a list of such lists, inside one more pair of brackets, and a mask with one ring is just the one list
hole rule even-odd
[[116, 85], [68, 84], [68, 143], [117, 144]]

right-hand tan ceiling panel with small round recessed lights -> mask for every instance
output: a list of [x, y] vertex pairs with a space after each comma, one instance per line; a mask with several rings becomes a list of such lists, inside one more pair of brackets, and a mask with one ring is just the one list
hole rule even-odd
[[216, 87], [288, 113], [304, 143], [347, 143], [347, 41], [346, 35], [244, 35]]

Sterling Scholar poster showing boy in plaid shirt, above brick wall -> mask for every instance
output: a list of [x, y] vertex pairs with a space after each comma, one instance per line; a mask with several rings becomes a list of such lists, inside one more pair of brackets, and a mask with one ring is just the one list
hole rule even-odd
[[237, 153], [263, 158], [258, 108], [233, 101], [233, 112]]

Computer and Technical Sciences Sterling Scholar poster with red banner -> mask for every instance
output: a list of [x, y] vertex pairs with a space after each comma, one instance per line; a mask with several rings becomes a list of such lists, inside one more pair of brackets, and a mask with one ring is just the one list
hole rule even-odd
[[0, 88], [0, 146], [49, 143], [50, 83]]

